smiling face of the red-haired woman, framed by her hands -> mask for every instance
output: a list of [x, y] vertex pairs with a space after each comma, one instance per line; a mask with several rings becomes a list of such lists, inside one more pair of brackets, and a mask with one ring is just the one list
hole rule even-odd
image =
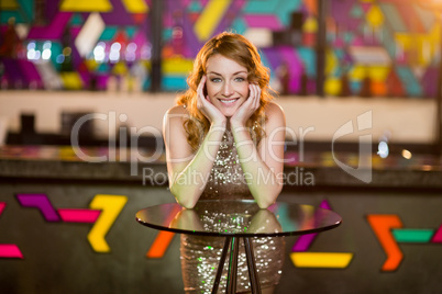
[[247, 69], [221, 54], [207, 60], [206, 89], [210, 102], [225, 117], [232, 116], [248, 98]]

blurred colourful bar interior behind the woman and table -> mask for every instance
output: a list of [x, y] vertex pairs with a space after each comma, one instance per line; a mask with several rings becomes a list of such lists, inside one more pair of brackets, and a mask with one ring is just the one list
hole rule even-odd
[[174, 202], [163, 115], [202, 45], [231, 31], [286, 112], [279, 200], [344, 218], [306, 250], [347, 263], [296, 264], [290, 237], [277, 293], [438, 293], [441, 13], [440, 0], [0, 1], [0, 292], [183, 293], [179, 238], [134, 214]]

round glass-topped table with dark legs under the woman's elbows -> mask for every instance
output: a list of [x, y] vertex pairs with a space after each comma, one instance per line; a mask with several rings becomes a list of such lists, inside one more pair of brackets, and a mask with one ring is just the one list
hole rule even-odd
[[[219, 222], [217, 222], [217, 224], [220, 223], [220, 225], [213, 226], [213, 217], [219, 215], [220, 212], [225, 211], [229, 211], [229, 214], [225, 214], [228, 217], [220, 217]], [[236, 227], [233, 229], [224, 229], [224, 225], [225, 227], [231, 226], [232, 215], [244, 214], [244, 212], [250, 212], [253, 215], [257, 213], [261, 214], [258, 218], [253, 217], [252, 219], [255, 220], [253, 227], [259, 228], [259, 231], [253, 231], [251, 229], [253, 222], [244, 224], [244, 230], [239, 230]], [[287, 212], [290, 212], [290, 214], [287, 214]], [[184, 215], [181, 215], [183, 213]], [[189, 215], [191, 217], [189, 217]], [[319, 233], [335, 228], [342, 223], [342, 217], [330, 210], [284, 202], [276, 202], [272, 205], [272, 210], [261, 210], [253, 200], [199, 201], [194, 210], [185, 211], [183, 211], [183, 207], [177, 203], [165, 203], [141, 210], [135, 216], [140, 224], [159, 230], [194, 234], [197, 236], [224, 237], [224, 246], [212, 286], [213, 294], [218, 292], [220, 286], [221, 275], [229, 250], [229, 269], [225, 290], [226, 293], [234, 294], [236, 292], [237, 256], [241, 239], [244, 241], [251, 291], [253, 294], [261, 294], [259, 276], [257, 274], [258, 268], [255, 263], [256, 257], [253, 252], [252, 238], [276, 238]], [[184, 216], [183, 219], [179, 219], [181, 216]], [[199, 219], [197, 225], [195, 224], [195, 219]], [[269, 220], [272, 220], [272, 225], [267, 224]], [[220, 228], [222, 229], [220, 230]], [[205, 286], [210, 287], [209, 284], [205, 284]]]

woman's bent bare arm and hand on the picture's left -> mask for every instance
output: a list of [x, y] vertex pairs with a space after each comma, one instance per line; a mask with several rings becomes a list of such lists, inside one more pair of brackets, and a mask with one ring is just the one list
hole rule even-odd
[[198, 108], [209, 118], [210, 128], [196, 154], [187, 143], [183, 123], [189, 114], [183, 106], [170, 109], [163, 123], [170, 192], [186, 208], [192, 208], [202, 194], [225, 132], [226, 118], [203, 98], [205, 82], [206, 77], [198, 87]]

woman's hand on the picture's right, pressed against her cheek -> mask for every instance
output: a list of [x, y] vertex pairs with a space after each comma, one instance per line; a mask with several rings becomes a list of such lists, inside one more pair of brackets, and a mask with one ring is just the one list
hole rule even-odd
[[237, 108], [236, 112], [230, 118], [230, 123], [234, 127], [244, 127], [247, 120], [255, 113], [259, 108], [261, 102], [261, 88], [256, 83], [248, 84], [248, 98], [244, 103]]

